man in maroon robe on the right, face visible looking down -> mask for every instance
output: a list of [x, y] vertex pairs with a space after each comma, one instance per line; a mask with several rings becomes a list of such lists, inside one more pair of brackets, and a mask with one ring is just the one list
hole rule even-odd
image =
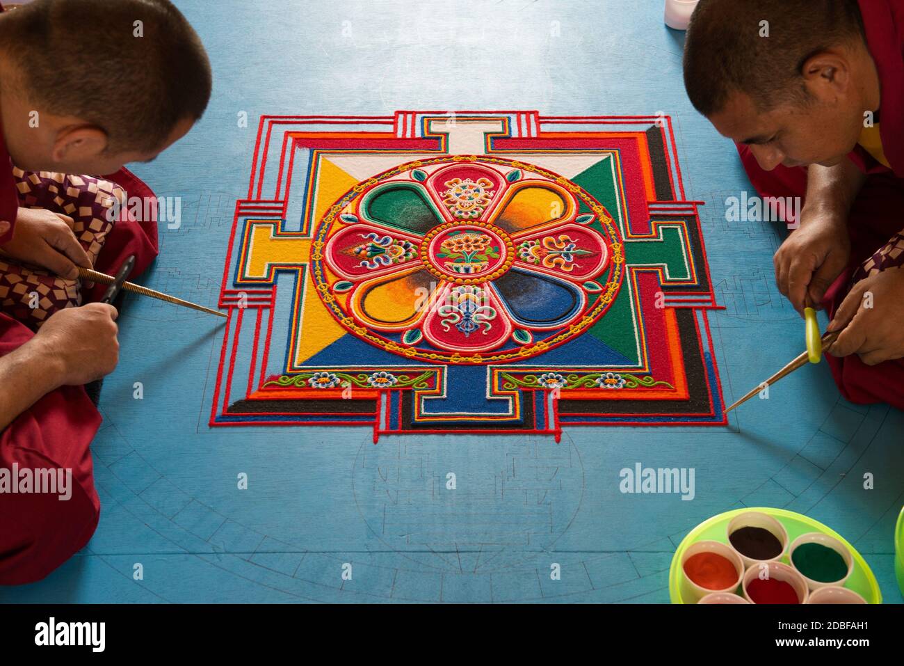
[[[841, 330], [844, 397], [904, 409], [904, 0], [701, 0], [684, 80], [763, 197], [801, 197], [778, 289]], [[803, 332], [802, 332], [803, 335]]]

